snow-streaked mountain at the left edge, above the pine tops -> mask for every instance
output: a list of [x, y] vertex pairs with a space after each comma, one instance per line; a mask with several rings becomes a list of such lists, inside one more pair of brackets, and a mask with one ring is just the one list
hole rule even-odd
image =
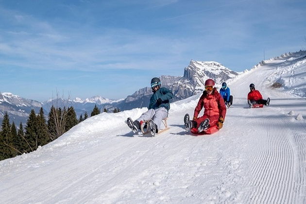
[[25, 99], [12, 93], [0, 93], [0, 122], [7, 112], [11, 122], [14, 121], [16, 125], [20, 122], [24, 124], [31, 110], [34, 109], [38, 113], [41, 107], [40, 102]]

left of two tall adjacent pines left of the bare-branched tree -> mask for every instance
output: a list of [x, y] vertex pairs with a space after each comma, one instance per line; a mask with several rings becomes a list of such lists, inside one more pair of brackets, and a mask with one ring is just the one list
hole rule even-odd
[[31, 152], [37, 149], [38, 146], [38, 136], [37, 136], [37, 119], [34, 109], [31, 110], [29, 119], [26, 124], [26, 133], [24, 138], [29, 143], [29, 146], [26, 148], [27, 152]]

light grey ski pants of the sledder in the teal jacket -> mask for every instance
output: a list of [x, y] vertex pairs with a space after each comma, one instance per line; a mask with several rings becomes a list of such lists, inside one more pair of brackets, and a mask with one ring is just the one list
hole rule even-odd
[[158, 109], [149, 109], [147, 112], [144, 112], [140, 118], [136, 119], [139, 122], [142, 121], [148, 121], [150, 119], [153, 119], [153, 122], [156, 124], [157, 129], [159, 130], [160, 125], [162, 123], [163, 119], [166, 119], [168, 117], [168, 111], [166, 108], [161, 107]]

